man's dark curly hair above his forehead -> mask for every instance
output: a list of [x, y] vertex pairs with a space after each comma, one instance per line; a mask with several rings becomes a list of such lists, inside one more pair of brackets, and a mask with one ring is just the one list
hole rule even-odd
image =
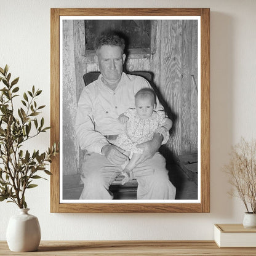
[[119, 46], [124, 52], [125, 41], [114, 31], [106, 31], [99, 34], [94, 41], [94, 49], [96, 51], [102, 46]]

